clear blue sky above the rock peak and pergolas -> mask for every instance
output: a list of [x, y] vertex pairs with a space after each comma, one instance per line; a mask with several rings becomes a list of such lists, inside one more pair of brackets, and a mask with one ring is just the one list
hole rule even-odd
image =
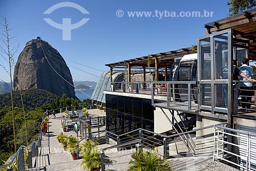
[[[68, 1], [0, 0], [0, 15], [8, 17], [11, 34], [15, 36], [11, 45], [20, 45], [15, 61], [26, 42], [40, 36], [66, 60], [74, 81], [97, 82], [98, 77], [93, 75], [100, 76], [101, 71], [109, 70], [104, 66], [106, 63], [196, 45], [197, 37], [205, 35], [204, 24], [228, 15], [227, 0], [216, 0], [211, 3], [203, 0], [80, 0], [70, 2], [80, 5], [90, 14], [82, 14], [71, 7], [59, 8], [51, 14], [44, 14], [53, 5], [62, 2]], [[117, 16], [118, 10], [123, 11], [122, 17]], [[153, 17], [156, 10], [163, 14], [162, 18], [158, 12], [158, 17]], [[189, 15], [192, 11], [200, 11], [203, 14], [204, 10], [214, 13], [209, 17], [167, 17], [168, 12], [176, 12], [179, 15], [184, 11]], [[148, 11], [152, 12], [152, 15], [129, 17], [128, 13], [131, 11]], [[86, 24], [71, 31], [71, 40], [63, 40], [62, 30], [52, 27], [44, 18], [51, 18], [59, 24], [62, 24], [62, 18], [71, 18], [72, 24], [82, 18], [90, 19]], [[3, 42], [0, 41], [0, 44], [3, 45]], [[8, 63], [2, 58], [0, 63], [8, 67]], [[0, 80], [10, 82], [8, 74], [2, 68], [0, 73]]]

